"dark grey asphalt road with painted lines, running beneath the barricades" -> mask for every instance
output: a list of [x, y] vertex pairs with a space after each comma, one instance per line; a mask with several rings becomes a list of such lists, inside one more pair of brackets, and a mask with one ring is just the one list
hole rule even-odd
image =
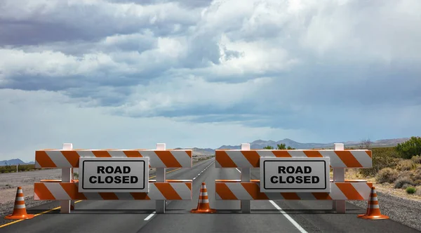
[[[215, 201], [215, 180], [239, 179], [241, 173], [215, 168], [214, 161], [167, 174], [168, 179], [195, 178], [194, 196], [192, 201], [168, 201], [164, 214], [153, 213], [154, 201], [81, 201], [70, 214], [51, 211], [1, 227], [0, 232], [418, 232], [392, 220], [356, 218], [366, 210], [352, 204], [347, 204], [346, 214], [333, 213], [331, 201], [251, 201], [252, 213], [240, 213], [239, 201]], [[253, 169], [252, 178], [258, 174]], [[189, 213], [197, 206], [201, 182], [206, 182], [210, 206], [218, 213]], [[46, 211], [54, 204], [28, 213]]]

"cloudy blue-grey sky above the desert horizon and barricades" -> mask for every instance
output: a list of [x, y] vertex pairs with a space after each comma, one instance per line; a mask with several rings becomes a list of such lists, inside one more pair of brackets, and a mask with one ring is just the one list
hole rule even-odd
[[0, 160], [421, 131], [421, 1], [2, 0]]

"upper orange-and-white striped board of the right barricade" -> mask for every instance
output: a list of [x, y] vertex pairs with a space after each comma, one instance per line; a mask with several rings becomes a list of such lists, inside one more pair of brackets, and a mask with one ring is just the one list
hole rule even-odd
[[331, 168], [371, 168], [373, 166], [371, 151], [365, 149], [352, 150], [313, 150], [313, 149], [216, 149], [217, 168], [259, 168], [260, 157], [329, 157]]

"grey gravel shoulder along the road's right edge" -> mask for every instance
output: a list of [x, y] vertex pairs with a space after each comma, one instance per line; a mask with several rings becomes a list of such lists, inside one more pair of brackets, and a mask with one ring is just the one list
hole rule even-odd
[[[395, 197], [377, 192], [380, 211], [390, 219], [421, 231], [421, 201]], [[368, 201], [349, 201], [356, 206], [367, 208]]]

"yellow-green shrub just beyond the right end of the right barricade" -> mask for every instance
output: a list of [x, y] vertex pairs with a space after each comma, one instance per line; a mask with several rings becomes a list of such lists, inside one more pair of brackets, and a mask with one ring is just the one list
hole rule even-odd
[[383, 168], [394, 168], [399, 161], [399, 154], [394, 147], [372, 148], [372, 168], [361, 168], [359, 173], [364, 177], [374, 176]]

